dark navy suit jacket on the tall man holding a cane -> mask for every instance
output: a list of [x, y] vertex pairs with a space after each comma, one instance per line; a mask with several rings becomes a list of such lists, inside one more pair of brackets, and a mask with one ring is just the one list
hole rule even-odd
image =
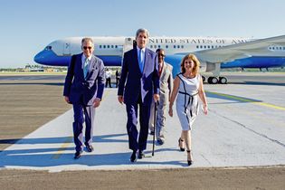
[[159, 93], [157, 53], [146, 48], [144, 71], [138, 65], [138, 52], [134, 48], [124, 53], [118, 95], [126, 104], [135, 104], [141, 95], [143, 103], [151, 104], [153, 94]]

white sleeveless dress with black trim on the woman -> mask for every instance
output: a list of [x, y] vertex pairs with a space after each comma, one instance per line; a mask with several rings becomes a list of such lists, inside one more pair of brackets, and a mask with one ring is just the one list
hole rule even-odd
[[177, 77], [180, 84], [176, 98], [176, 113], [182, 130], [191, 130], [199, 110], [198, 89], [201, 75], [197, 74], [195, 78], [188, 79], [180, 73]]

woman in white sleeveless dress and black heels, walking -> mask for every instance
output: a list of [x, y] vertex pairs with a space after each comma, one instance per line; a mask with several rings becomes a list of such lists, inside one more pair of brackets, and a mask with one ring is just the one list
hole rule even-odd
[[199, 111], [198, 96], [203, 102], [204, 114], [208, 113], [203, 80], [198, 73], [199, 66], [200, 62], [194, 54], [185, 55], [181, 62], [181, 73], [176, 75], [169, 103], [169, 116], [172, 117], [172, 107], [176, 100], [176, 112], [182, 128], [181, 138], [179, 138], [178, 143], [181, 151], [185, 151], [185, 147], [187, 149], [188, 166], [193, 163], [191, 154], [191, 129]]

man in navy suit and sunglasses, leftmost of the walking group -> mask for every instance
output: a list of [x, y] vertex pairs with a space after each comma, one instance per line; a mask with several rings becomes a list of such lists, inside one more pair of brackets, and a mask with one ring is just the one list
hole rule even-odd
[[83, 38], [81, 49], [83, 52], [71, 57], [63, 90], [64, 100], [72, 104], [74, 111], [75, 159], [81, 157], [83, 150], [84, 120], [86, 126], [84, 145], [88, 152], [93, 151], [91, 143], [95, 108], [100, 106], [105, 83], [104, 63], [92, 54], [94, 51], [92, 39]]

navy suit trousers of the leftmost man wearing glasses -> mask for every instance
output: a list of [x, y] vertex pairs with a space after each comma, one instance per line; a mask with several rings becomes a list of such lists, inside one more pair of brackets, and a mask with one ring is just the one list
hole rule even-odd
[[[95, 108], [85, 106], [82, 103], [73, 103], [74, 122], [73, 122], [73, 139], [75, 150], [83, 149], [83, 123], [85, 121], [85, 145], [90, 145], [93, 138], [93, 126], [95, 118]], [[83, 117], [84, 114], [84, 117]]]

